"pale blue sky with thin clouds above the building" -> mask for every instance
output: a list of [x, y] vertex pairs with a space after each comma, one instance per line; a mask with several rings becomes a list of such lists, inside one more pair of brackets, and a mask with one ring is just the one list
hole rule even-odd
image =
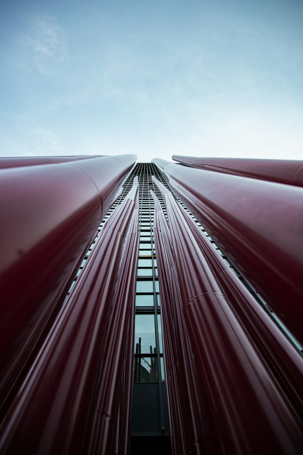
[[0, 156], [303, 159], [302, 0], [0, 1]]

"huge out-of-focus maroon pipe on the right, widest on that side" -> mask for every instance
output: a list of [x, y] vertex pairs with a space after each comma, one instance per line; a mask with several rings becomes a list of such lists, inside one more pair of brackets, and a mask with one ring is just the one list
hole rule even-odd
[[303, 343], [303, 190], [156, 158], [170, 187]]

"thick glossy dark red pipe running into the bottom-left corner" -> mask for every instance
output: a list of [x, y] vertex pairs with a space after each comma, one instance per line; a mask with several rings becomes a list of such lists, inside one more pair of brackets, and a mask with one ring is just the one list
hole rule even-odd
[[132, 188], [104, 224], [10, 408], [2, 428], [1, 453], [86, 453], [100, 356], [136, 193], [137, 188]]

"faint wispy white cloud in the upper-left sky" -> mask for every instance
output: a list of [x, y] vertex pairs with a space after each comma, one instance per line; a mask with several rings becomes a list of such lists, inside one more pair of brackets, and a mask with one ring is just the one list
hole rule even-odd
[[25, 49], [30, 51], [28, 68], [42, 74], [50, 74], [67, 57], [65, 32], [49, 14], [34, 15], [28, 21], [27, 34], [22, 39]]

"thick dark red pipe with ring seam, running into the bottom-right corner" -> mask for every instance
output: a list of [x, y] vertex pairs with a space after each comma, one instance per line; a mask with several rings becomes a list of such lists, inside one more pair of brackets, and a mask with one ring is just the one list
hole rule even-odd
[[173, 194], [164, 199], [189, 338], [224, 450], [301, 453], [293, 408], [224, 298]]

